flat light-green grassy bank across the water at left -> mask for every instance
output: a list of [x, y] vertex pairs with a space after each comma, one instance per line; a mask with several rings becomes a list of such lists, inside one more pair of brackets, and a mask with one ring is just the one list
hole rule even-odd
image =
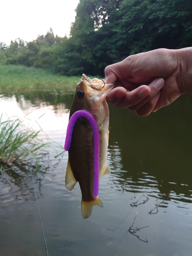
[[0, 65], [0, 90], [4, 92], [47, 90], [52, 93], [73, 93], [79, 79], [34, 67]]

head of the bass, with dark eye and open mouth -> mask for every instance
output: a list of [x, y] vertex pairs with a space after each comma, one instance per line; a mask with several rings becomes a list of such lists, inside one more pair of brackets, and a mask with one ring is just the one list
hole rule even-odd
[[90, 79], [83, 74], [77, 84], [70, 115], [83, 109], [89, 111], [96, 120], [104, 118], [103, 114], [108, 109], [105, 98], [114, 86], [115, 83], [105, 84], [104, 79]]

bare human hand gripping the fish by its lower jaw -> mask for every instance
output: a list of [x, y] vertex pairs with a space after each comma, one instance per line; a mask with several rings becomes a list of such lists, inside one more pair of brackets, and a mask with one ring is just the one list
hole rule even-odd
[[131, 55], [106, 67], [105, 82], [117, 82], [106, 99], [119, 108], [136, 111], [139, 116], [147, 116], [172, 103], [185, 93], [178, 51], [182, 52], [157, 49]]

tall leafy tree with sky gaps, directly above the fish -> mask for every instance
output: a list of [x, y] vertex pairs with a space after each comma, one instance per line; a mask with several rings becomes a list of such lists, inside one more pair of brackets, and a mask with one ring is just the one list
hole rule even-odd
[[[103, 73], [104, 66], [111, 57], [102, 43], [106, 32], [104, 29], [104, 32], [100, 31], [110, 23], [118, 4], [117, 0], [80, 0], [70, 38], [63, 40], [59, 48], [55, 49], [56, 72], [68, 75], [81, 75], [82, 72], [90, 75]], [[56, 60], [57, 57], [59, 60]]]

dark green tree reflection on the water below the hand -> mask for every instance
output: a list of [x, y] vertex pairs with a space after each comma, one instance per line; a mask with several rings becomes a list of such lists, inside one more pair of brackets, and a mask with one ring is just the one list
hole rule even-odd
[[109, 158], [116, 186], [191, 202], [192, 101], [187, 98], [187, 108], [182, 98], [174, 103], [145, 118], [110, 105]]

